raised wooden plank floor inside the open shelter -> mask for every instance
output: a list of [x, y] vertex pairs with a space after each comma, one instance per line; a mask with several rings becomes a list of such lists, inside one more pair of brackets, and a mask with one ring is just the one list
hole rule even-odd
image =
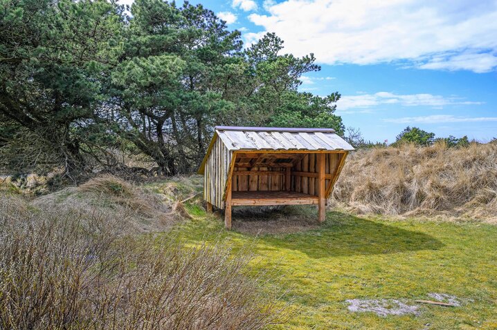
[[231, 205], [318, 204], [318, 196], [294, 191], [233, 191]]

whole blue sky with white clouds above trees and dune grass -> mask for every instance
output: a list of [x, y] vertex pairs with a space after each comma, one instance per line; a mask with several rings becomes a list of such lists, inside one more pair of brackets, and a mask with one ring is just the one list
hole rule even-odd
[[322, 70], [302, 77], [300, 90], [341, 93], [336, 113], [365, 139], [393, 142], [406, 126], [497, 137], [497, 1], [190, 3], [216, 12], [247, 45], [275, 32], [284, 52], [314, 52]]

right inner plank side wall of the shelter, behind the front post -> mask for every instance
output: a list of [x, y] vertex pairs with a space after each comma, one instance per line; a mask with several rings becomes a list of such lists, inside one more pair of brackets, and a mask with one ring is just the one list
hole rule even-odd
[[[300, 162], [293, 166], [292, 172], [308, 172], [316, 173], [316, 177], [305, 177], [300, 175], [291, 175], [291, 190], [297, 193], [306, 193], [309, 195], [318, 195], [318, 168], [317, 168], [317, 154], [311, 153], [305, 155]], [[326, 160], [326, 174], [334, 175], [338, 169], [343, 153], [327, 153]], [[329, 185], [329, 179], [326, 179], [326, 187]]]

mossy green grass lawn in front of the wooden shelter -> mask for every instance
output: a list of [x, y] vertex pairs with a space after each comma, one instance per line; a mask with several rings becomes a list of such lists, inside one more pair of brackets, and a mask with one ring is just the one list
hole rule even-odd
[[[250, 246], [253, 271], [267, 270], [289, 302], [277, 329], [497, 329], [497, 226], [477, 223], [382, 220], [328, 212], [327, 222], [293, 233], [254, 235], [222, 229], [219, 215], [189, 206], [193, 220], [177, 228], [190, 244], [229, 237]], [[302, 216], [314, 208], [294, 207]], [[271, 213], [267, 217], [271, 217]], [[461, 307], [419, 305], [418, 314], [351, 312], [350, 299], [461, 298]]]

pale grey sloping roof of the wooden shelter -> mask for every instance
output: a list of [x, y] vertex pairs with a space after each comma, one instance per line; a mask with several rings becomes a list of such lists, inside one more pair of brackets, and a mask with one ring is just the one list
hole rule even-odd
[[353, 151], [330, 128], [277, 128], [216, 126], [215, 133], [231, 150]]

